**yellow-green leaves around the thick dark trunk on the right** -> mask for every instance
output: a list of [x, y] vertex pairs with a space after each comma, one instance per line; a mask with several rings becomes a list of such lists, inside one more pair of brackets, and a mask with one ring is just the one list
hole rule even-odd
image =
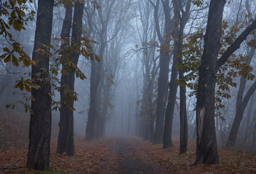
[[[223, 20], [221, 29], [221, 49], [218, 57], [220, 57], [225, 50], [236, 40], [237, 33], [244, 28], [246, 24], [239, 24], [237, 22], [232, 27], [228, 27], [228, 22]], [[204, 29], [197, 31], [189, 36], [184, 36], [185, 41], [182, 45], [182, 56], [184, 57], [182, 62], [177, 64], [177, 69], [182, 69], [184, 73], [188, 73], [185, 76], [185, 80], [177, 80], [179, 85], [186, 85], [190, 92], [189, 97], [196, 95], [197, 83], [196, 78], [198, 76], [197, 69], [200, 67], [200, 58], [202, 57], [204, 51]], [[255, 40], [248, 43], [250, 47], [255, 47], [253, 44]], [[247, 80], [253, 80], [255, 75], [253, 75], [253, 68], [248, 65], [248, 57], [242, 54], [232, 54], [227, 62], [216, 73], [216, 116], [221, 117], [220, 109], [224, 108], [225, 105], [222, 104], [223, 99], [229, 99], [230, 87], [236, 87], [237, 83], [234, 82], [237, 76], [243, 76]], [[224, 119], [221, 117], [221, 119]]]

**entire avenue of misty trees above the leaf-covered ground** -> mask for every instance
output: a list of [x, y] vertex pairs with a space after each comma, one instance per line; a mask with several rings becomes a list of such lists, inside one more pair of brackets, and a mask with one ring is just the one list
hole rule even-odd
[[256, 152], [255, 1], [0, 0], [0, 17], [1, 105], [30, 113], [28, 168], [49, 170], [54, 114], [67, 156], [77, 115], [86, 141], [194, 139], [195, 164]]

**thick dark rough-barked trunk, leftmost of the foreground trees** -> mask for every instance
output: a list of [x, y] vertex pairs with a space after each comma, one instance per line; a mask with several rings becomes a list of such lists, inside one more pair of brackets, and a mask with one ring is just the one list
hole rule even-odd
[[[40, 89], [32, 89], [31, 118], [29, 122], [29, 149], [27, 167], [34, 170], [49, 170], [51, 139], [51, 84], [49, 76], [49, 54], [36, 52], [38, 48], [51, 44], [53, 0], [38, 0], [35, 45], [31, 78]], [[49, 50], [47, 50], [49, 51]], [[40, 80], [37, 80], [40, 78]]]

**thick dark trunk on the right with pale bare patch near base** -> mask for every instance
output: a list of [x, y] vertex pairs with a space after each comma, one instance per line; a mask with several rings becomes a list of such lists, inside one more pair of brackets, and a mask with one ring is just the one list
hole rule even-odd
[[221, 23], [225, 0], [211, 0], [205, 46], [199, 68], [196, 102], [196, 161], [195, 164], [219, 163], [214, 123], [216, 59], [220, 51]]

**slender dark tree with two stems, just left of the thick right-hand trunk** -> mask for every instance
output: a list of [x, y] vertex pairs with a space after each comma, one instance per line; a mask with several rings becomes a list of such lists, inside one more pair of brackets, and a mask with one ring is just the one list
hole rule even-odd
[[[165, 112], [164, 120], [164, 134], [163, 134], [163, 148], [172, 147], [172, 120], [174, 113], [174, 106], [177, 93], [177, 64], [182, 61], [182, 36], [184, 34], [184, 27], [189, 18], [189, 11], [191, 1], [186, 1], [186, 10], [183, 10], [179, 1], [172, 1], [174, 8], [174, 43], [173, 43], [173, 62], [172, 74], [169, 82], [168, 103]], [[180, 15], [181, 13], [181, 15]], [[179, 78], [183, 79], [184, 74], [182, 69], [179, 69]], [[186, 114], [186, 86], [180, 85], [180, 153], [186, 152], [188, 141], [188, 122]]]

